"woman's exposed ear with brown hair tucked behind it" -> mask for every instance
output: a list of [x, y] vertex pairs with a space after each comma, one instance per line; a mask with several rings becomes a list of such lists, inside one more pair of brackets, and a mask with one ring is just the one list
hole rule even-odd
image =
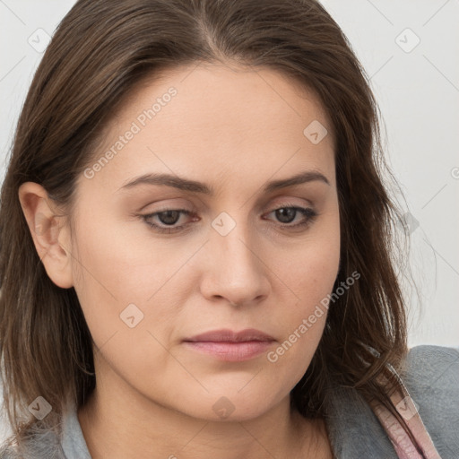
[[73, 287], [71, 238], [64, 216], [56, 214], [47, 191], [37, 183], [23, 183], [19, 187], [19, 200], [49, 278], [62, 289]]

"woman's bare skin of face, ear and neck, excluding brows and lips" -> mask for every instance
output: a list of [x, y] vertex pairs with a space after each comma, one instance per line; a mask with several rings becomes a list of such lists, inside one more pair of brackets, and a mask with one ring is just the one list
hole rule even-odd
[[[74, 228], [38, 184], [19, 193], [49, 277], [74, 287], [93, 337], [97, 387], [78, 410], [91, 455], [332, 457], [324, 421], [306, 420], [289, 405], [326, 314], [275, 362], [267, 352], [221, 361], [182, 341], [253, 327], [273, 336], [268, 351], [275, 351], [332, 292], [340, 226], [325, 111], [314, 94], [271, 69], [178, 67], [136, 88], [95, 158], [171, 86], [178, 93], [160, 113], [93, 178], [78, 179]], [[314, 120], [329, 132], [317, 144], [303, 134]], [[329, 185], [263, 191], [270, 180], [306, 170]], [[215, 195], [153, 185], [119, 190], [147, 172], [204, 182]], [[292, 205], [318, 216], [307, 227], [282, 229], [307, 220], [297, 212], [286, 222], [274, 212]], [[184, 208], [195, 219], [179, 214], [169, 226], [184, 229], [167, 234], [139, 217], [164, 208]], [[212, 227], [221, 212], [236, 223], [226, 236]], [[149, 221], [168, 226], [159, 216]], [[143, 313], [132, 328], [120, 318], [129, 304]], [[212, 408], [218, 401], [229, 417]]]

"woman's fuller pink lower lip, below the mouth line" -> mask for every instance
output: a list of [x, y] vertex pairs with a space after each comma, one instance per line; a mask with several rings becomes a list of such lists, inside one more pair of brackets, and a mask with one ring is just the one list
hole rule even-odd
[[267, 351], [273, 344], [272, 341], [247, 341], [247, 342], [211, 342], [211, 341], [186, 341], [185, 344], [195, 351], [210, 354], [216, 359], [240, 362], [253, 359]]

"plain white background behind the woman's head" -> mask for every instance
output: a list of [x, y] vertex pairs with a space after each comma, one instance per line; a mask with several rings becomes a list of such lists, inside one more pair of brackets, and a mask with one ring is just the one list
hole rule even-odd
[[[73, 4], [0, 0], [0, 182], [42, 56], [28, 40], [39, 29], [52, 35]], [[371, 77], [387, 158], [419, 222], [411, 225], [411, 266], [421, 301], [411, 300], [409, 343], [459, 346], [459, 1], [322, 4]]]

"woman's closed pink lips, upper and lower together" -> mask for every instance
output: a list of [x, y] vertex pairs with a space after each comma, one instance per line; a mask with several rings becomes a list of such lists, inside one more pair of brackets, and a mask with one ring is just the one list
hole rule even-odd
[[184, 344], [197, 352], [212, 355], [224, 361], [244, 361], [254, 359], [275, 342], [273, 336], [255, 328], [240, 332], [228, 329], [212, 330], [186, 338]]

